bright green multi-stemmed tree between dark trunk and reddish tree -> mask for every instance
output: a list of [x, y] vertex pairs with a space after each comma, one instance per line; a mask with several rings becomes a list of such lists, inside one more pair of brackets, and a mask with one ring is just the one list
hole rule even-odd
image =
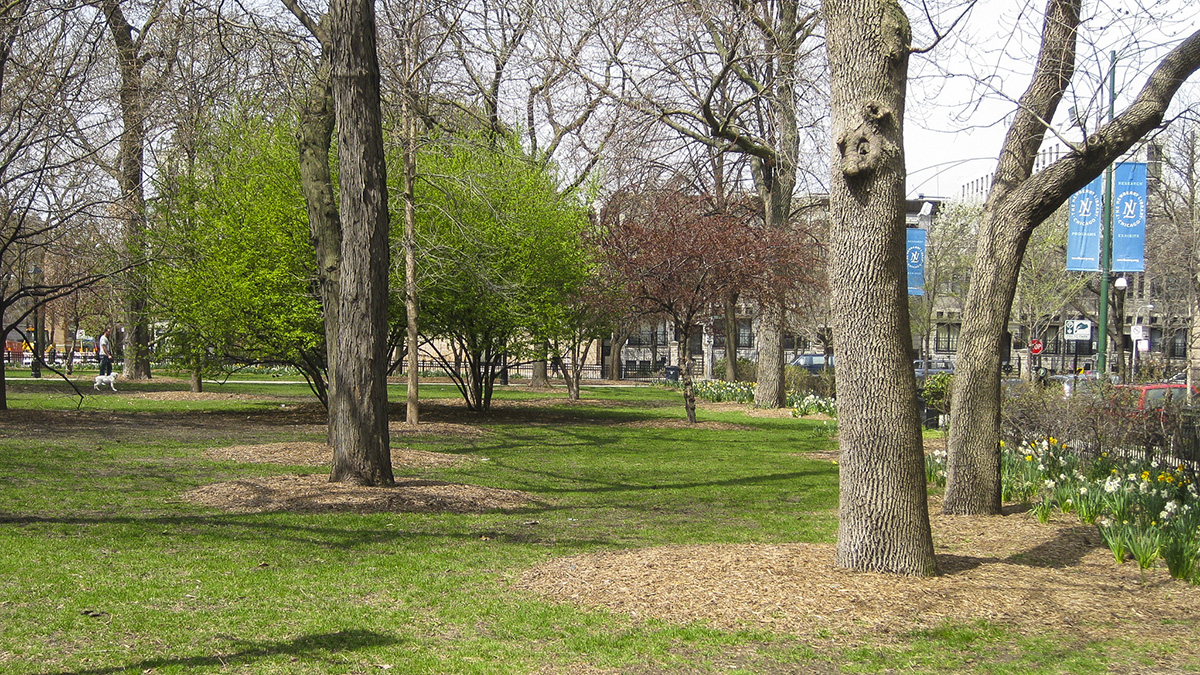
[[587, 217], [517, 142], [443, 139], [422, 154], [418, 202], [421, 334], [474, 411], [506, 359], [562, 334], [586, 276]]

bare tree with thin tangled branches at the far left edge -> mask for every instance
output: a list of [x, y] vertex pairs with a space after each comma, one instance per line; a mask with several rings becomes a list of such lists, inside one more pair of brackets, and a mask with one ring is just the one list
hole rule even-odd
[[[120, 267], [91, 214], [94, 156], [84, 135], [100, 34], [78, 13], [37, 0], [0, 8], [0, 331]], [[86, 120], [86, 121], [84, 121]], [[71, 264], [65, 264], [70, 262]], [[40, 330], [38, 330], [40, 333]], [[42, 363], [40, 335], [29, 336]], [[0, 408], [6, 407], [0, 365]]]

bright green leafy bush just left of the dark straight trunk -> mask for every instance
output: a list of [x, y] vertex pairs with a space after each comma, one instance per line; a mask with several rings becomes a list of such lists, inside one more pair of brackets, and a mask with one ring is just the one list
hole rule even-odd
[[191, 172], [163, 186], [151, 271], [163, 356], [296, 362], [323, 342], [295, 131], [244, 110], [216, 120]]

